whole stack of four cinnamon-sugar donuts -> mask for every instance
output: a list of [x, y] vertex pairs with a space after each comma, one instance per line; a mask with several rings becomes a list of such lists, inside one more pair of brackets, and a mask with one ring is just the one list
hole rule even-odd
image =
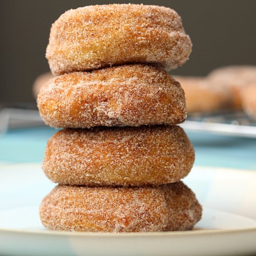
[[69, 10], [51, 28], [56, 75], [40, 90], [47, 143], [43, 170], [59, 183], [42, 201], [51, 230], [189, 230], [202, 208], [180, 180], [195, 153], [176, 126], [186, 118], [180, 84], [166, 70], [191, 52], [180, 16], [158, 6]]

